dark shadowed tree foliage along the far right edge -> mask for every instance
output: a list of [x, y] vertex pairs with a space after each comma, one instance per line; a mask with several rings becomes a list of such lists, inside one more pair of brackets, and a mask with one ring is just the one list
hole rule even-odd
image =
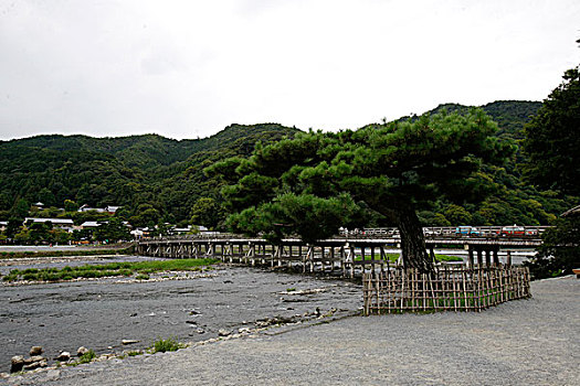
[[[525, 179], [544, 189], [580, 195], [580, 67], [568, 69], [526, 126]], [[576, 199], [576, 205], [579, 203]], [[578, 208], [542, 235], [544, 245], [528, 264], [535, 278], [570, 275], [580, 268]]]

